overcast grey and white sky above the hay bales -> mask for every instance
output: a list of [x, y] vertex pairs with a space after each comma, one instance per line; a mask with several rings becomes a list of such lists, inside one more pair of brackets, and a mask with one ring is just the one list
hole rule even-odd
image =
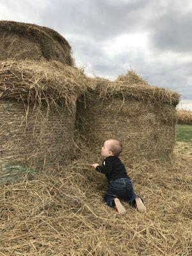
[[0, 19], [55, 29], [86, 74], [133, 69], [192, 110], [191, 0], [0, 0]]

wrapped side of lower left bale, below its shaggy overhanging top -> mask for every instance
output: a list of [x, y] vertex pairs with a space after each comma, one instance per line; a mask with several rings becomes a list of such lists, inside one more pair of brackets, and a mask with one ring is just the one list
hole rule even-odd
[[75, 109], [34, 108], [33, 104], [0, 100], [1, 161], [44, 167], [74, 157]]

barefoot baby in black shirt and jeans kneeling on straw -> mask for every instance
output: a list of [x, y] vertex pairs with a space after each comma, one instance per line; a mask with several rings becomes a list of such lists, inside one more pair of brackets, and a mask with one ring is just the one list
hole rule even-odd
[[97, 172], [104, 173], [108, 179], [108, 189], [104, 201], [120, 214], [125, 213], [120, 198], [129, 202], [138, 211], [144, 212], [146, 210], [143, 199], [134, 193], [131, 179], [127, 175], [124, 164], [118, 158], [121, 152], [122, 143], [119, 140], [106, 140], [101, 148], [101, 155], [104, 157], [102, 165], [92, 164]]

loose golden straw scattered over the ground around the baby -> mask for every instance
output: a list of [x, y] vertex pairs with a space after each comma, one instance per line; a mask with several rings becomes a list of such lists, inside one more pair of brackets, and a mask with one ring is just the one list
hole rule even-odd
[[106, 180], [87, 157], [0, 186], [1, 255], [191, 256], [191, 158], [133, 164], [147, 213], [124, 203], [121, 216], [102, 202]]

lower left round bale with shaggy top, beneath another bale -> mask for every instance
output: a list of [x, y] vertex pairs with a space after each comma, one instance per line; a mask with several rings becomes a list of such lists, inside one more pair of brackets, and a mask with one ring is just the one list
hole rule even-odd
[[0, 63], [0, 163], [41, 170], [74, 157], [81, 70], [56, 61]]

